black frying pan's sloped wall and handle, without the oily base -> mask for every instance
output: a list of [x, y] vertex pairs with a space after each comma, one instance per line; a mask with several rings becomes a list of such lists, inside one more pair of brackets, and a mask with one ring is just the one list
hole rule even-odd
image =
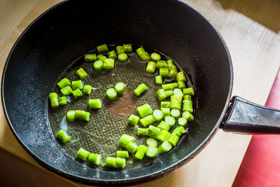
[[[134, 43], [172, 57], [197, 88], [190, 131], [153, 164], [121, 171], [78, 162], [56, 141], [48, 94], [80, 55], [102, 43]], [[20, 144], [46, 168], [91, 184], [127, 185], [155, 179], [190, 161], [218, 128], [279, 133], [278, 110], [232, 97], [233, 70], [221, 34], [182, 1], [63, 1], [25, 29], [13, 46], [1, 82], [3, 111]]]

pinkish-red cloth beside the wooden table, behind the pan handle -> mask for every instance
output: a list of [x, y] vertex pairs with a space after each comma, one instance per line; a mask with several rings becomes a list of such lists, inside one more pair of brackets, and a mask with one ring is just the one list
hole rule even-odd
[[[280, 71], [265, 106], [280, 109]], [[280, 186], [280, 135], [252, 137], [232, 186]]]

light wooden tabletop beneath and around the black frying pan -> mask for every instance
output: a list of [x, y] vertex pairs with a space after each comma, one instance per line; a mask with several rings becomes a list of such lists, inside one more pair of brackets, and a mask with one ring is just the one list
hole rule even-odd
[[[185, 0], [186, 1], [186, 0]], [[0, 0], [0, 70], [18, 36], [59, 0]], [[221, 32], [232, 55], [233, 95], [265, 104], [280, 64], [280, 1], [189, 0]], [[0, 108], [0, 186], [84, 186], [41, 167], [13, 136]], [[251, 139], [218, 130], [188, 164], [137, 186], [231, 186]], [[15, 180], [17, 177], [18, 180]]]

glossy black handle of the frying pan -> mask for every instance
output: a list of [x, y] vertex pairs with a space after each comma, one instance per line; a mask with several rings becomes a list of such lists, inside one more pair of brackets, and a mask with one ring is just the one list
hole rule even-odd
[[244, 134], [280, 134], [280, 110], [268, 108], [235, 96], [221, 128]]

